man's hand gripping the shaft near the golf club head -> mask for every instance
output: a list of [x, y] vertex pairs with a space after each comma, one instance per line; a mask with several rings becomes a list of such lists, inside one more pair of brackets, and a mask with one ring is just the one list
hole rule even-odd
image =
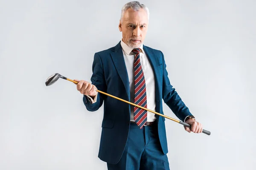
[[76, 84], [76, 88], [78, 91], [80, 91], [81, 94], [84, 94], [84, 95], [87, 95], [87, 96], [90, 96], [91, 98], [94, 98], [97, 94], [97, 91], [96, 91], [96, 86], [87, 82], [87, 81], [84, 81], [84, 80], [77, 80], [77, 79], [74, 79], [74, 81], [78, 82]]

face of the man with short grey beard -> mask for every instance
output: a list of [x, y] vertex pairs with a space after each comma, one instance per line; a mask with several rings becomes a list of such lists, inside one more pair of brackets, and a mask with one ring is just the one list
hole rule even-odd
[[122, 31], [122, 41], [131, 48], [139, 48], [148, 31], [148, 15], [141, 8], [134, 11], [131, 8], [125, 11], [119, 22], [119, 31]]

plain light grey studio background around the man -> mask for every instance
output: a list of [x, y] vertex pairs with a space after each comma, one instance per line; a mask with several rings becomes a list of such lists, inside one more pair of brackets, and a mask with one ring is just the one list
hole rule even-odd
[[[124, 0], [0, 1], [0, 169], [106, 170], [103, 107], [86, 110], [72, 82], [121, 40]], [[144, 44], [163, 51], [172, 85], [205, 134], [166, 122], [172, 170], [253, 170], [256, 159], [256, 1], [143, 0]], [[176, 118], [167, 105], [164, 113]]]

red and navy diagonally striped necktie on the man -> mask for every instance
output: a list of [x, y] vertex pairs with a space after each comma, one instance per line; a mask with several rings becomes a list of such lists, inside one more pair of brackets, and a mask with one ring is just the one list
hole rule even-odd
[[[132, 52], [135, 53], [134, 57], [134, 103], [136, 105], [147, 108], [147, 94], [146, 84], [143, 70], [140, 64], [140, 48], [134, 48]], [[134, 106], [134, 121], [140, 129], [147, 122], [147, 111]]]

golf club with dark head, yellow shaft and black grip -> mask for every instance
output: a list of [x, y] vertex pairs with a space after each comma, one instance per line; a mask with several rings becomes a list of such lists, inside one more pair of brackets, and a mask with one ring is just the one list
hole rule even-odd
[[[52, 85], [52, 84], [55, 83], [59, 78], [61, 78], [61, 79], [66, 79], [66, 80], [68, 80], [68, 81], [70, 81], [70, 82], [73, 82], [73, 83], [76, 83], [76, 84], [78, 83], [78, 82], [76, 82], [76, 81], [73, 81], [72, 79], [68, 79], [67, 77], [62, 76], [61, 74], [55, 73], [55, 74], [51, 75], [51, 76], [46, 80], [45, 85], [46, 85], [46, 86]], [[96, 90], [96, 91], [98, 91], [98, 92], [101, 93], [101, 94], [105, 94], [105, 95], [107, 95], [107, 96], [110, 96], [110, 97], [113, 97], [113, 98], [115, 98], [115, 99], [121, 100], [122, 102], [126, 102], [126, 103], [128, 103], [128, 104], [130, 104], [130, 105], [133, 105], [133, 106], [136, 106], [136, 107], [138, 107], [138, 108], [144, 109], [144, 110], [146, 110], [146, 111], [150, 111], [151, 113], [155, 113], [155, 114], [157, 114], [157, 115], [159, 115], [159, 116], [163, 116], [163, 117], [165, 117], [165, 118], [167, 118], [167, 119], [170, 119], [170, 120], [172, 120], [172, 121], [174, 121], [174, 122], [180, 123], [181, 125], [184, 125], [184, 126], [186, 126], [186, 127], [191, 127], [191, 125], [189, 125], [189, 124], [187, 124], [187, 123], [185, 123], [185, 122], [182, 122], [182, 121], [180, 121], [180, 120], [173, 119], [173, 118], [171, 118], [171, 117], [169, 117], [169, 116], [166, 116], [166, 115], [157, 113], [157, 112], [152, 111], [152, 110], [147, 109], [147, 108], [143, 108], [143, 107], [141, 107], [141, 106], [139, 106], [139, 105], [136, 105], [136, 104], [134, 104], [134, 103], [128, 102], [128, 101], [126, 101], [126, 100], [124, 100], [124, 99], [120, 99], [120, 98], [118, 98], [118, 97], [116, 97], [116, 96], [112, 96], [111, 94], [107, 94], [107, 93], [105, 93], [105, 92], [103, 92], [103, 91], [99, 91], [99, 90]], [[204, 129], [203, 129], [203, 133], [205, 133], [205, 134], [207, 134], [207, 135], [210, 135], [210, 134], [211, 134], [210, 131], [204, 130]]]

